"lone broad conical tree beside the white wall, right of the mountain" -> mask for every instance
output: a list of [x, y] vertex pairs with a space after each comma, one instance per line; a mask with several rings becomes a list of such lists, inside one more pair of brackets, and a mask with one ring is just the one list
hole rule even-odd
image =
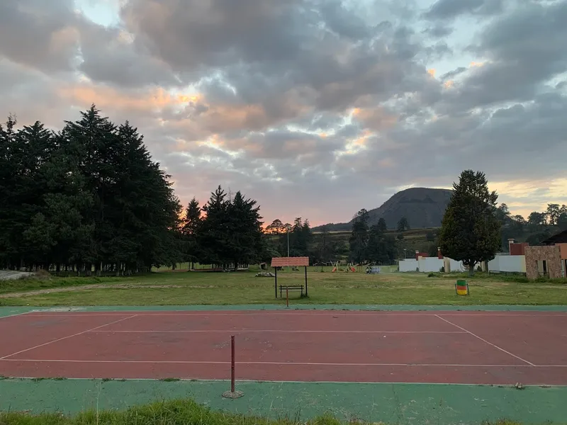
[[471, 276], [476, 263], [493, 259], [500, 248], [500, 222], [494, 213], [497, 199], [480, 171], [463, 171], [459, 183], [453, 184], [439, 246], [444, 255], [468, 266]]

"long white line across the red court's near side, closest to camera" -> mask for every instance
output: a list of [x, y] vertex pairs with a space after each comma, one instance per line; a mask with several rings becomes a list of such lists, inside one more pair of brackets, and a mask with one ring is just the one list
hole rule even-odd
[[[181, 364], [181, 365], [230, 365], [230, 361], [168, 361], [168, 360], [61, 360], [33, 358], [0, 358], [1, 361], [26, 363], [119, 363], [119, 364]], [[567, 368], [567, 365], [471, 365], [458, 363], [313, 363], [313, 362], [277, 362], [277, 361], [238, 361], [239, 365], [291, 365], [291, 366], [407, 366], [407, 367], [439, 367], [439, 368]]]

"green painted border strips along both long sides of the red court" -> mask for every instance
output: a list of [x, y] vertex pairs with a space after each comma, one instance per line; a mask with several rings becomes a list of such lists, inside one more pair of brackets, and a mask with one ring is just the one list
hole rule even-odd
[[[92, 307], [0, 307], [0, 318], [28, 312], [288, 310], [281, 305], [179, 305]], [[567, 305], [298, 305], [290, 310], [541, 311], [567, 312]], [[227, 371], [228, 372], [228, 371]], [[512, 419], [522, 424], [567, 424], [567, 386], [445, 385], [362, 382], [237, 382], [240, 399], [224, 399], [227, 381], [179, 380], [0, 380], [0, 410], [75, 413], [126, 409], [163, 399], [191, 398], [213, 409], [281, 418], [338, 419], [386, 424], [475, 424]]]

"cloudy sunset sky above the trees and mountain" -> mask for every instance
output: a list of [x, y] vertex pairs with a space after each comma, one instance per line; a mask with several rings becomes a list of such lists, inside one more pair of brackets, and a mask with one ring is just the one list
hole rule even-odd
[[184, 205], [345, 222], [464, 169], [567, 204], [567, 0], [0, 2], [0, 117], [129, 120]]

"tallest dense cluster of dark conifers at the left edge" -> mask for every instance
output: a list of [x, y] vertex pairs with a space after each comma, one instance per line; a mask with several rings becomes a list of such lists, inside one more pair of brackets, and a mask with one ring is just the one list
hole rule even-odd
[[117, 274], [179, 261], [181, 205], [142, 136], [92, 106], [62, 130], [0, 125], [0, 268]]

